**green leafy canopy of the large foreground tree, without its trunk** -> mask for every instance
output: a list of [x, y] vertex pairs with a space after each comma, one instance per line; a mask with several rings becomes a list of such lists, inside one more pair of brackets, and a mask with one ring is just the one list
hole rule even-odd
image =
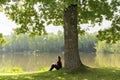
[[[98, 38], [108, 42], [120, 40], [119, 0], [13, 0], [13, 3], [6, 3], [5, 12], [20, 24], [16, 29], [18, 34], [28, 32], [41, 35], [46, 33], [46, 25], [63, 25], [64, 9], [71, 4], [78, 4], [78, 26], [85, 23], [100, 24], [104, 16], [112, 21], [112, 27], [99, 31]], [[80, 26], [78, 29], [83, 32]]]

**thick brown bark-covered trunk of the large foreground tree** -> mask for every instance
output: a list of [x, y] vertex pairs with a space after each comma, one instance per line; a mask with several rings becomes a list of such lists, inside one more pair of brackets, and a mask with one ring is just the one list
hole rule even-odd
[[78, 69], [82, 66], [78, 51], [77, 5], [64, 11], [65, 68]]

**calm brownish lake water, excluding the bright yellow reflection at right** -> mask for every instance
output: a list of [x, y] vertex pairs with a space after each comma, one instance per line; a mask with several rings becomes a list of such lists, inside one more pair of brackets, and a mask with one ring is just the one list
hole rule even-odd
[[[20, 67], [24, 71], [36, 71], [40, 67], [49, 67], [52, 63], [56, 63], [57, 56], [62, 57], [63, 54], [0, 54], [0, 69]], [[95, 54], [81, 54], [81, 60], [85, 65], [95, 67]]]

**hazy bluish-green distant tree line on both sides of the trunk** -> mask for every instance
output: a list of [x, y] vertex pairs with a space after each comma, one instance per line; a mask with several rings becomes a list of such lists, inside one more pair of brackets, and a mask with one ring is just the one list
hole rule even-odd
[[[62, 53], [64, 52], [64, 37], [62, 32], [42, 36], [29, 37], [27, 34], [12, 34], [6, 37], [8, 42], [0, 53]], [[95, 53], [97, 38], [94, 34], [79, 35], [79, 51], [81, 53]]]

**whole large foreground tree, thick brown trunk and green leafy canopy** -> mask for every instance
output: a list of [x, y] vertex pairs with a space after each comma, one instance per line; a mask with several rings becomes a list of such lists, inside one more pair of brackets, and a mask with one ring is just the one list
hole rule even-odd
[[[82, 65], [78, 53], [78, 33], [84, 31], [80, 30], [79, 25], [83, 23], [100, 24], [104, 17], [115, 23], [114, 21], [117, 19], [114, 15], [115, 12], [118, 12], [117, 6], [120, 6], [119, 0], [13, 1], [14, 3], [6, 4], [5, 12], [12, 20], [20, 24], [20, 27], [16, 29], [17, 33], [27, 32], [31, 35], [41, 35], [46, 33], [45, 24], [51, 23], [64, 26], [65, 68], [68, 69], [77, 69]], [[99, 33], [101, 34], [102, 32], [100, 31]], [[100, 37], [99, 39], [101, 39]], [[102, 38], [105, 38], [104, 35], [102, 35]], [[118, 37], [116, 38], [109, 39], [119, 40]]]

